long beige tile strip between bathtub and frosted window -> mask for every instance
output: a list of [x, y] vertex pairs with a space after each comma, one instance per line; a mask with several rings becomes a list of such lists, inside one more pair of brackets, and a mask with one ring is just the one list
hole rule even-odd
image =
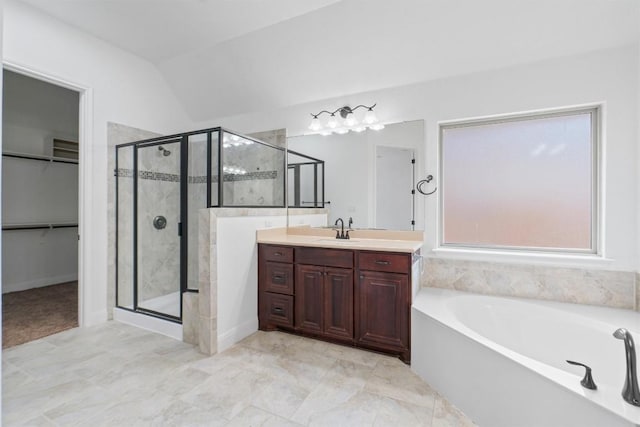
[[424, 259], [422, 286], [637, 309], [635, 272]]

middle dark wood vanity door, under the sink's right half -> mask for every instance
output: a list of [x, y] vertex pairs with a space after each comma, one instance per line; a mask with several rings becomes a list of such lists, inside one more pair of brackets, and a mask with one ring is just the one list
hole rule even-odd
[[325, 268], [324, 333], [353, 342], [353, 270]]

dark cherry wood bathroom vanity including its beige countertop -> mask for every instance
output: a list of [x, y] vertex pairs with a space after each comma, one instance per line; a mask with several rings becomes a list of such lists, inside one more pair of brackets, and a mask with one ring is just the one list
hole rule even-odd
[[409, 233], [403, 236], [415, 240], [258, 232], [259, 328], [394, 354], [409, 363], [411, 300], [419, 285], [414, 260], [422, 245], [416, 237], [422, 233]]

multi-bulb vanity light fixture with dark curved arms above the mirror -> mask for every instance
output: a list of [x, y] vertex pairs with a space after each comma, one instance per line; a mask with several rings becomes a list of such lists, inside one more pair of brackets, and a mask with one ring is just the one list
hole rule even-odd
[[[376, 113], [374, 113], [373, 109], [377, 104], [373, 104], [368, 107], [366, 105], [358, 105], [357, 107], [351, 108], [347, 105], [344, 107], [340, 107], [335, 111], [327, 111], [322, 110], [318, 114], [311, 114], [313, 117], [311, 119], [311, 124], [309, 125], [309, 130], [314, 133], [319, 133], [320, 135], [331, 135], [332, 133], [337, 134], [345, 134], [349, 131], [354, 132], [362, 132], [364, 130], [372, 129], [372, 130], [381, 130], [384, 129], [384, 125], [378, 122], [378, 117], [376, 117]], [[366, 113], [364, 117], [358, 121], [355, 111], [358, 108], [366, 108]], [[339, 122], [339, 118], [336, 114], [339, 113], [340, 117], [344, 119], [342, 123]], [[323, 126], [320, 121], [320, 116], [322, 114], [328, 114], [329, 119], [327, 123]]]

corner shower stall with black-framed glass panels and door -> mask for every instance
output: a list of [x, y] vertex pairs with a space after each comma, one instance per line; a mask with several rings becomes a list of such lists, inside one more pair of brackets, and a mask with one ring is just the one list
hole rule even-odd
[[222, 128], [116, 146], [116, 307], [182, 322], [198, 211], [285, 207], [286, 152]]

